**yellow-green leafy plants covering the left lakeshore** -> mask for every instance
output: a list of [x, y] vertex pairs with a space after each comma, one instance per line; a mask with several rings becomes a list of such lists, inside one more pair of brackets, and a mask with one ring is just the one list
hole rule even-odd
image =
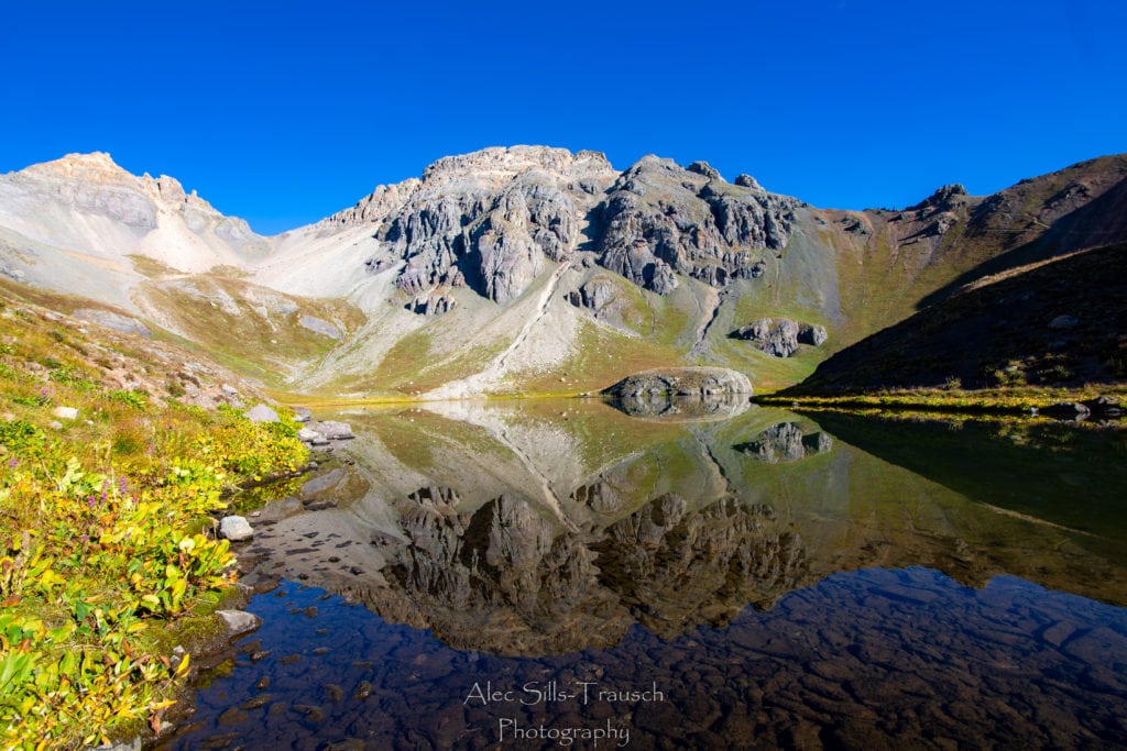
[[[211, 515], [237, 483], [305, 458], [291, 422], [104, 394], [116, 431], [105, 440], [0, 421], [2, 748], [90, 745], [159, 723], [187, 669], [161, 654], [168, 628], [214, 607], [234, 576]], [[123, 455], [122, 440], [157, 450]]]

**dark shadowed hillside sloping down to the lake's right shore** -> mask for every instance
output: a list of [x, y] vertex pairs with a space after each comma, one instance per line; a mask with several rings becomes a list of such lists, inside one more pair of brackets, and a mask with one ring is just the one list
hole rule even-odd
[[1127, 244], [984, 279], [823, 363], [793, 393], [1127, 379]]

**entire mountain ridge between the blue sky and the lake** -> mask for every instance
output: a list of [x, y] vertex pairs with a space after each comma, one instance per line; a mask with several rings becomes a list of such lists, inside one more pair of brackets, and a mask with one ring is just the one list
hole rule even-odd
[[[929, 348], [985, 342], [974, 367], [986, 384], [1015, 363], [1031, 382], [1117, 379], [1122, 342], [1084, 332], [1118, 289], [1092, 275], [1118, 263], [1122, 242], [1125, 155], [988, 197], [955, 185], [903, 211], [853, 212], [748, 175], [729, 182], [706, 162], [646, 157], [620, 172], [591, 151], [495, 147], [272, 238], [106, 154], [0, 176], [7, 294], [65, 293], [61, 312], [101, 310], [267, 385], [332, 395], [577, 393], [671, 366], [729, 367], [772, 390], [827, 358], [811, 387], [932, 385], [960, 375], [953, 360], [891, 361], [911, 355], [923, 309], [961, 327]], [[1084, 283], [1070, 286], [1072, 274]], [[1003, 283], [1014, 298], [1026, 281], [1042, 302], [1063, 296], [1044, 312], [1077, 324], [994, 357], [994, 314], [971, 320], [956, 301]], [[887, 351], [862, 342], [900, 321]], [[1083, 367], [1046, 359], [1049, 346], [1065, 359], [1083, 350]]]

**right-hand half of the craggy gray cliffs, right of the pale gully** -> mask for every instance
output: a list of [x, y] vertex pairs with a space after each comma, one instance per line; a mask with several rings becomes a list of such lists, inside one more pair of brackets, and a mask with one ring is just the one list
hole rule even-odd
[[646, 157], [621, 175], [600, 207], [603, 266], [659, 294], [676, 286], [671, 271], [713, 286], [762, 276], [755, 251], [787, 245], [799, 203], [693, 167]]

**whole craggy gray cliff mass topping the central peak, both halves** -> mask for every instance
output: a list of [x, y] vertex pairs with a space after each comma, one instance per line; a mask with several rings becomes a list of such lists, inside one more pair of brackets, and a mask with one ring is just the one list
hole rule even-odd
[[514, 146], [438, 160], [421, 180], [381, 186], [329, 221], [376, 223], [376, 239], [406, 261], [396, 285], [411, 310], [433, 314], [462, 284], [514, 299], [585, 240], [603, 267], [658, 294], [677, 274], [718, 287], [757, 278], [757, 251], [787, 245], [797, 206], [751, 178], [729, 185], [707, 162], [647, 157], [619, 175], [602, 154]]

